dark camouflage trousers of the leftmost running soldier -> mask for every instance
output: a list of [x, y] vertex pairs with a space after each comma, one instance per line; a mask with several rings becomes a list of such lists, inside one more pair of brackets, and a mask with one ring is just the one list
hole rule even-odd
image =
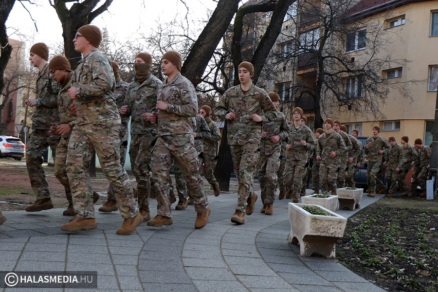
[[48, 146], [52, 148], [52, 156], [55, 160], [56, 145], [59, 143], [59, 135], [52, 136], [49, 130], [34, 129], [29, 136], [26, 145], [26, 166], [29, 173], [29, 179], [37, 200], [50, 199], [49, 184], [46, 180], [46, 174], [42, 166], [44, 150]]

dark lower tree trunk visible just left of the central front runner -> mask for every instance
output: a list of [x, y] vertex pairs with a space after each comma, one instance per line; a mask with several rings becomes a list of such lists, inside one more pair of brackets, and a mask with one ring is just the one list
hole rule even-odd
[[214, 175], [218, 180], [219, 189], [224, 192], [230, 191], [230, 178], [233, 172], [233, 157], [231, 156], [231, 147], [228, 144], [228, 127], [225, 121], [222, 138], [219, 146], [219, 159], [216, 164]]

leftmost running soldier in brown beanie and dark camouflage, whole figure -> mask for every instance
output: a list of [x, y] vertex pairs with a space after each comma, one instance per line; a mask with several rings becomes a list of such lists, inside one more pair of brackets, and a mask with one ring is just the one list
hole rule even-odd
[[[27, 106], [35, 107], [32, 118], [32, 133], [26, 145], [26, 166], [37, 200], [25, 210], [37, 212], [53, 208], [49, 184], [42, 166], [42, 154], [50, 146], [55, 160], [56, 145], [59, 143], [60, 137], [59, 135], [52, 136], [49, 130], [51, 123], [59, 123], [57, 99], [59, 87], [49, 77], [49, 48], [45, 43], [36, 43], [32, 46], [29, 60], [39, 71], [36, 97], [26, 101]], [[69, 194], [66, 195], [69, 196]]]

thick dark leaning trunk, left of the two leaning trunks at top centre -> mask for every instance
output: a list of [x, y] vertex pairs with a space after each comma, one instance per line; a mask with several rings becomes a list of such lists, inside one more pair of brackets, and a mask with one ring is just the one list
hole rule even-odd
[[219, 0], [213, 15], [190, 49], [181, 68], [181, 74], [196, 87], [220, 39], [225, 34], [237, 11], [240, 0]]

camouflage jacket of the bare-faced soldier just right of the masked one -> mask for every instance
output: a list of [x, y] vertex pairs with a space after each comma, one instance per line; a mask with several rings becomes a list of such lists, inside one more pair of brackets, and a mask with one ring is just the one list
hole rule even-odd
[[193, 84], [181, 73], [170, 81], [166, 78], [158, 90], [157, 100], [167, 103], [167, 110], [158, 111], [158, 136], [193, 137], [189, 118], [198, 113], [198, 97]]

